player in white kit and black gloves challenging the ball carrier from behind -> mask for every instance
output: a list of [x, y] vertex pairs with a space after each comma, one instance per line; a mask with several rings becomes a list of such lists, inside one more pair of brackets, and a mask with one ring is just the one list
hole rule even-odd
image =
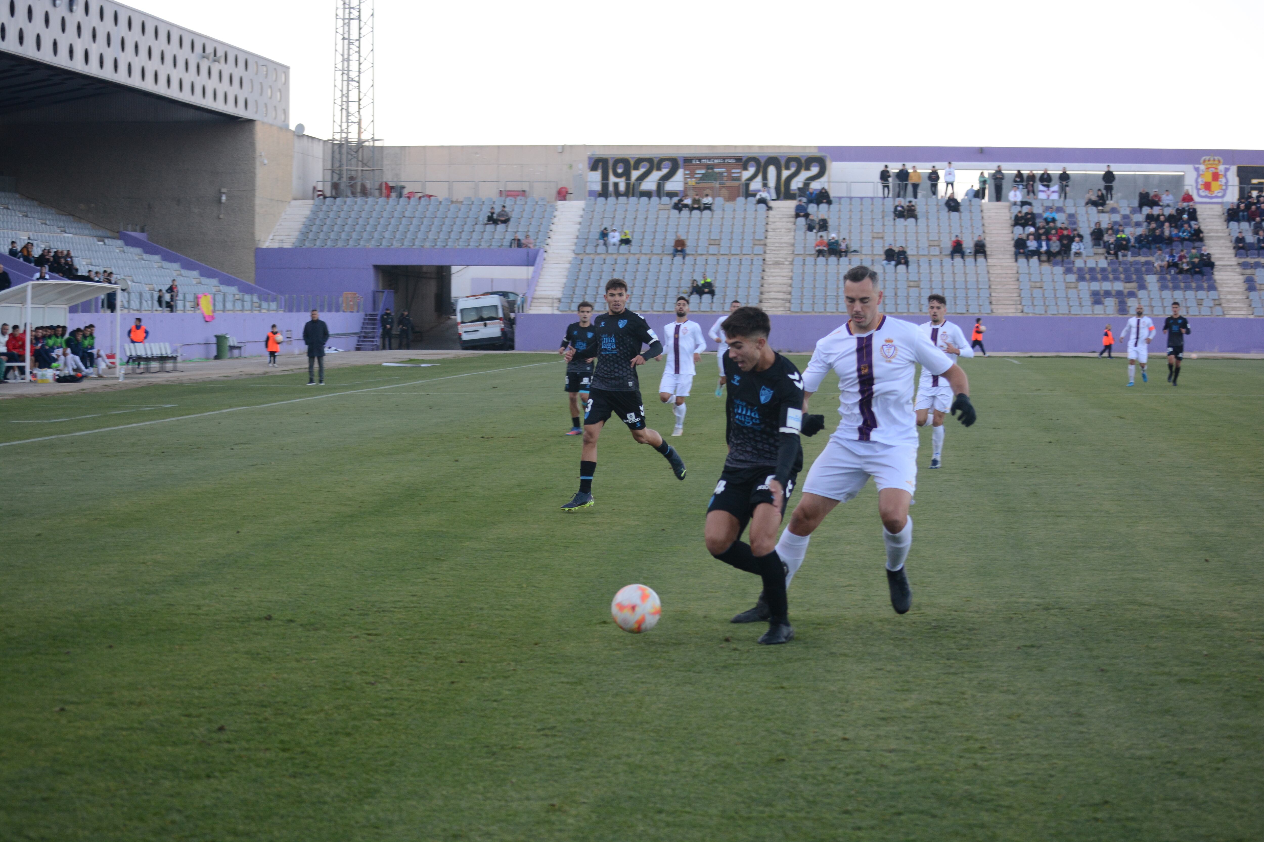
[[975, 423], [966, 372], [930, 345], [915, 324], [882, 316], [877, 273], [853, 266], [843, 280], [848, 322], [817, 342], [804, 372], [804, 412], [825, 374], [838, 375], [838, 429], [813, 463], [803, 499], [777, 542], [777, 555], [789, 577], [803, 563], [811, 533], [834, 506], [860, 494], [870, 477], [877, 485], [877, 511], [886, 544], [886, 578], [891, 607], [904, 614], [913, 591], [904, 562], [913, 545], [909, 506], [918, 481], [918, 430], [913, 415], [914, 366], [948, 381], [952, 414], [966, 427]]

